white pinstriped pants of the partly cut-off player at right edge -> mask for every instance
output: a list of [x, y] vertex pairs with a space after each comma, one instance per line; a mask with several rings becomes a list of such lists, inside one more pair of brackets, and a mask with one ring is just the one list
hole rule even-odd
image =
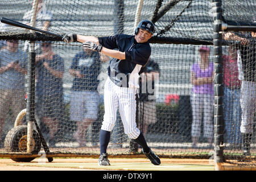
[[240, 95], [242, 121], [241, 133], [253, 132], [253, 119], [256, 112], [256, 82], [242, 81]]

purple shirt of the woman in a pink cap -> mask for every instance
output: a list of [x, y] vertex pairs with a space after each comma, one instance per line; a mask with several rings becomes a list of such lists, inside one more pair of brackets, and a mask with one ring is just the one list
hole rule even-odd
[[[207, 69], [201, 69], [199, 63], [194, 63], [191, 71], [195, 73], [196, 78], [202, 78], [212, 77], [213, 69], [214, 66], [212, 62], [209, 63], [209, 67]], [[193, 85], [192, 93], [213, 94], [213, 84]]]

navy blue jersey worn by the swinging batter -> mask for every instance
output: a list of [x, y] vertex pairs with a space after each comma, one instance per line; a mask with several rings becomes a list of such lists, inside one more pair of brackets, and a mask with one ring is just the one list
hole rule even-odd
[[129, 87], [131, 73], [138, 75], [151, 55], [150, 44], [137, 43], [135, 35], [125, 34], [101, 37], [98, 40], [103, 47], [125, 52], [125, 60], [110, 60], [108, 75], [115, 85]]

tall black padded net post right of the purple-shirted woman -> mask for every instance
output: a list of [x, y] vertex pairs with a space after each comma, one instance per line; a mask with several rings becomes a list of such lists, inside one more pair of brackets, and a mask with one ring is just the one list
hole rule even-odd
[[222, 32], [221, 32], [221, 0], [212, 0], [214, 32], [213, 32], [213, 61], [214, 61], [214, 162], [219, 170], [223, 163], [224, 117], [223, 117], [223, 74], [222, 74]]

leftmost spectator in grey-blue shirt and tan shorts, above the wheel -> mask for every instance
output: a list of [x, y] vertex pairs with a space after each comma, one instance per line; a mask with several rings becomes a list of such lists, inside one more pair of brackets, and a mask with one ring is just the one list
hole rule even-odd
[[7, 40], [6, 48], [0, 51], [0, 139], [9, 110], [11, 109], [12, 120], [15, 121], [19, 112], [26, 108], [24, 102], [26, 61], [26, 53], [19, 50], [19, 41]]

